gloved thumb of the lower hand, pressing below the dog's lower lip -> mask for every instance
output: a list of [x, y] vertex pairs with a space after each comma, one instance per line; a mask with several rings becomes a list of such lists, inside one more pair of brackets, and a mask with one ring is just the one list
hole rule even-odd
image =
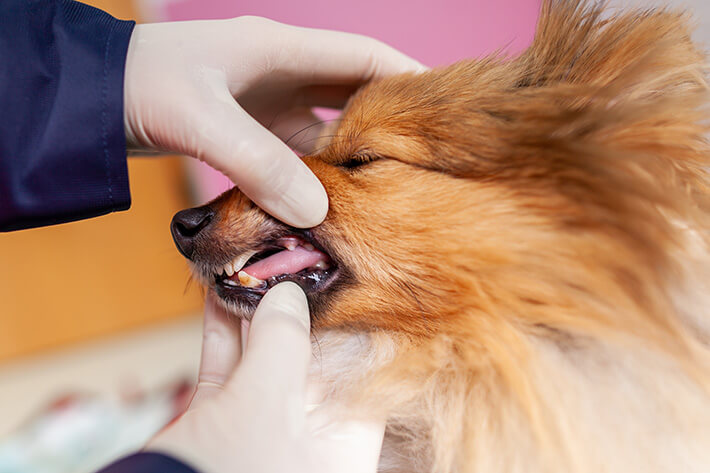
[[255, 377], [272, 394], [302, 400], [310, 358], [306, 295], [295, 283], [278, 284], [266, 293], [254, 313], [240, 374]]

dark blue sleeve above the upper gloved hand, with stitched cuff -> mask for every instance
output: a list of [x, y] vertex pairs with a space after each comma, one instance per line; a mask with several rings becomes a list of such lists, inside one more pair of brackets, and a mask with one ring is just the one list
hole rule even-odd
[[135, 23], [0, 1], [0, 231], [130, 206], [123, 74]]

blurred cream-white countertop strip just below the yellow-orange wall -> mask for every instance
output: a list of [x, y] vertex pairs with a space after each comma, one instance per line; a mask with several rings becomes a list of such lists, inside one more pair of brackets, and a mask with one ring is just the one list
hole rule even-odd
[[0, 436], [63, 394], [117, 397], [194, 380], [201, 341], [195, 316], [0, 364]]

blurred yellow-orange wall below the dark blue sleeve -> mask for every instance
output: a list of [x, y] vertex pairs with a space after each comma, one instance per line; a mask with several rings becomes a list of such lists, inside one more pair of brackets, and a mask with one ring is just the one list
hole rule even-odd
[[[127, 1], [89, 3], [135, 18]], [[129, 174], [128, 212], [0, 234], [0, 359], [199, 310], [169, 230], [189, 205], [178, 159], [131, 159]]]

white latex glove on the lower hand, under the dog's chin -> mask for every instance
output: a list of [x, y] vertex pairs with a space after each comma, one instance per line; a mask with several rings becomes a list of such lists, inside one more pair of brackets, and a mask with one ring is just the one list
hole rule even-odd
[[311, 344], [303, 291], [285, 282], [264, 296], [243, 356], [239, 324], [212, 297], [192, 403], [146, 450], [201, 473], [375, 472], [384, 422], [307, 408], [313, 386], [306, 379]]

